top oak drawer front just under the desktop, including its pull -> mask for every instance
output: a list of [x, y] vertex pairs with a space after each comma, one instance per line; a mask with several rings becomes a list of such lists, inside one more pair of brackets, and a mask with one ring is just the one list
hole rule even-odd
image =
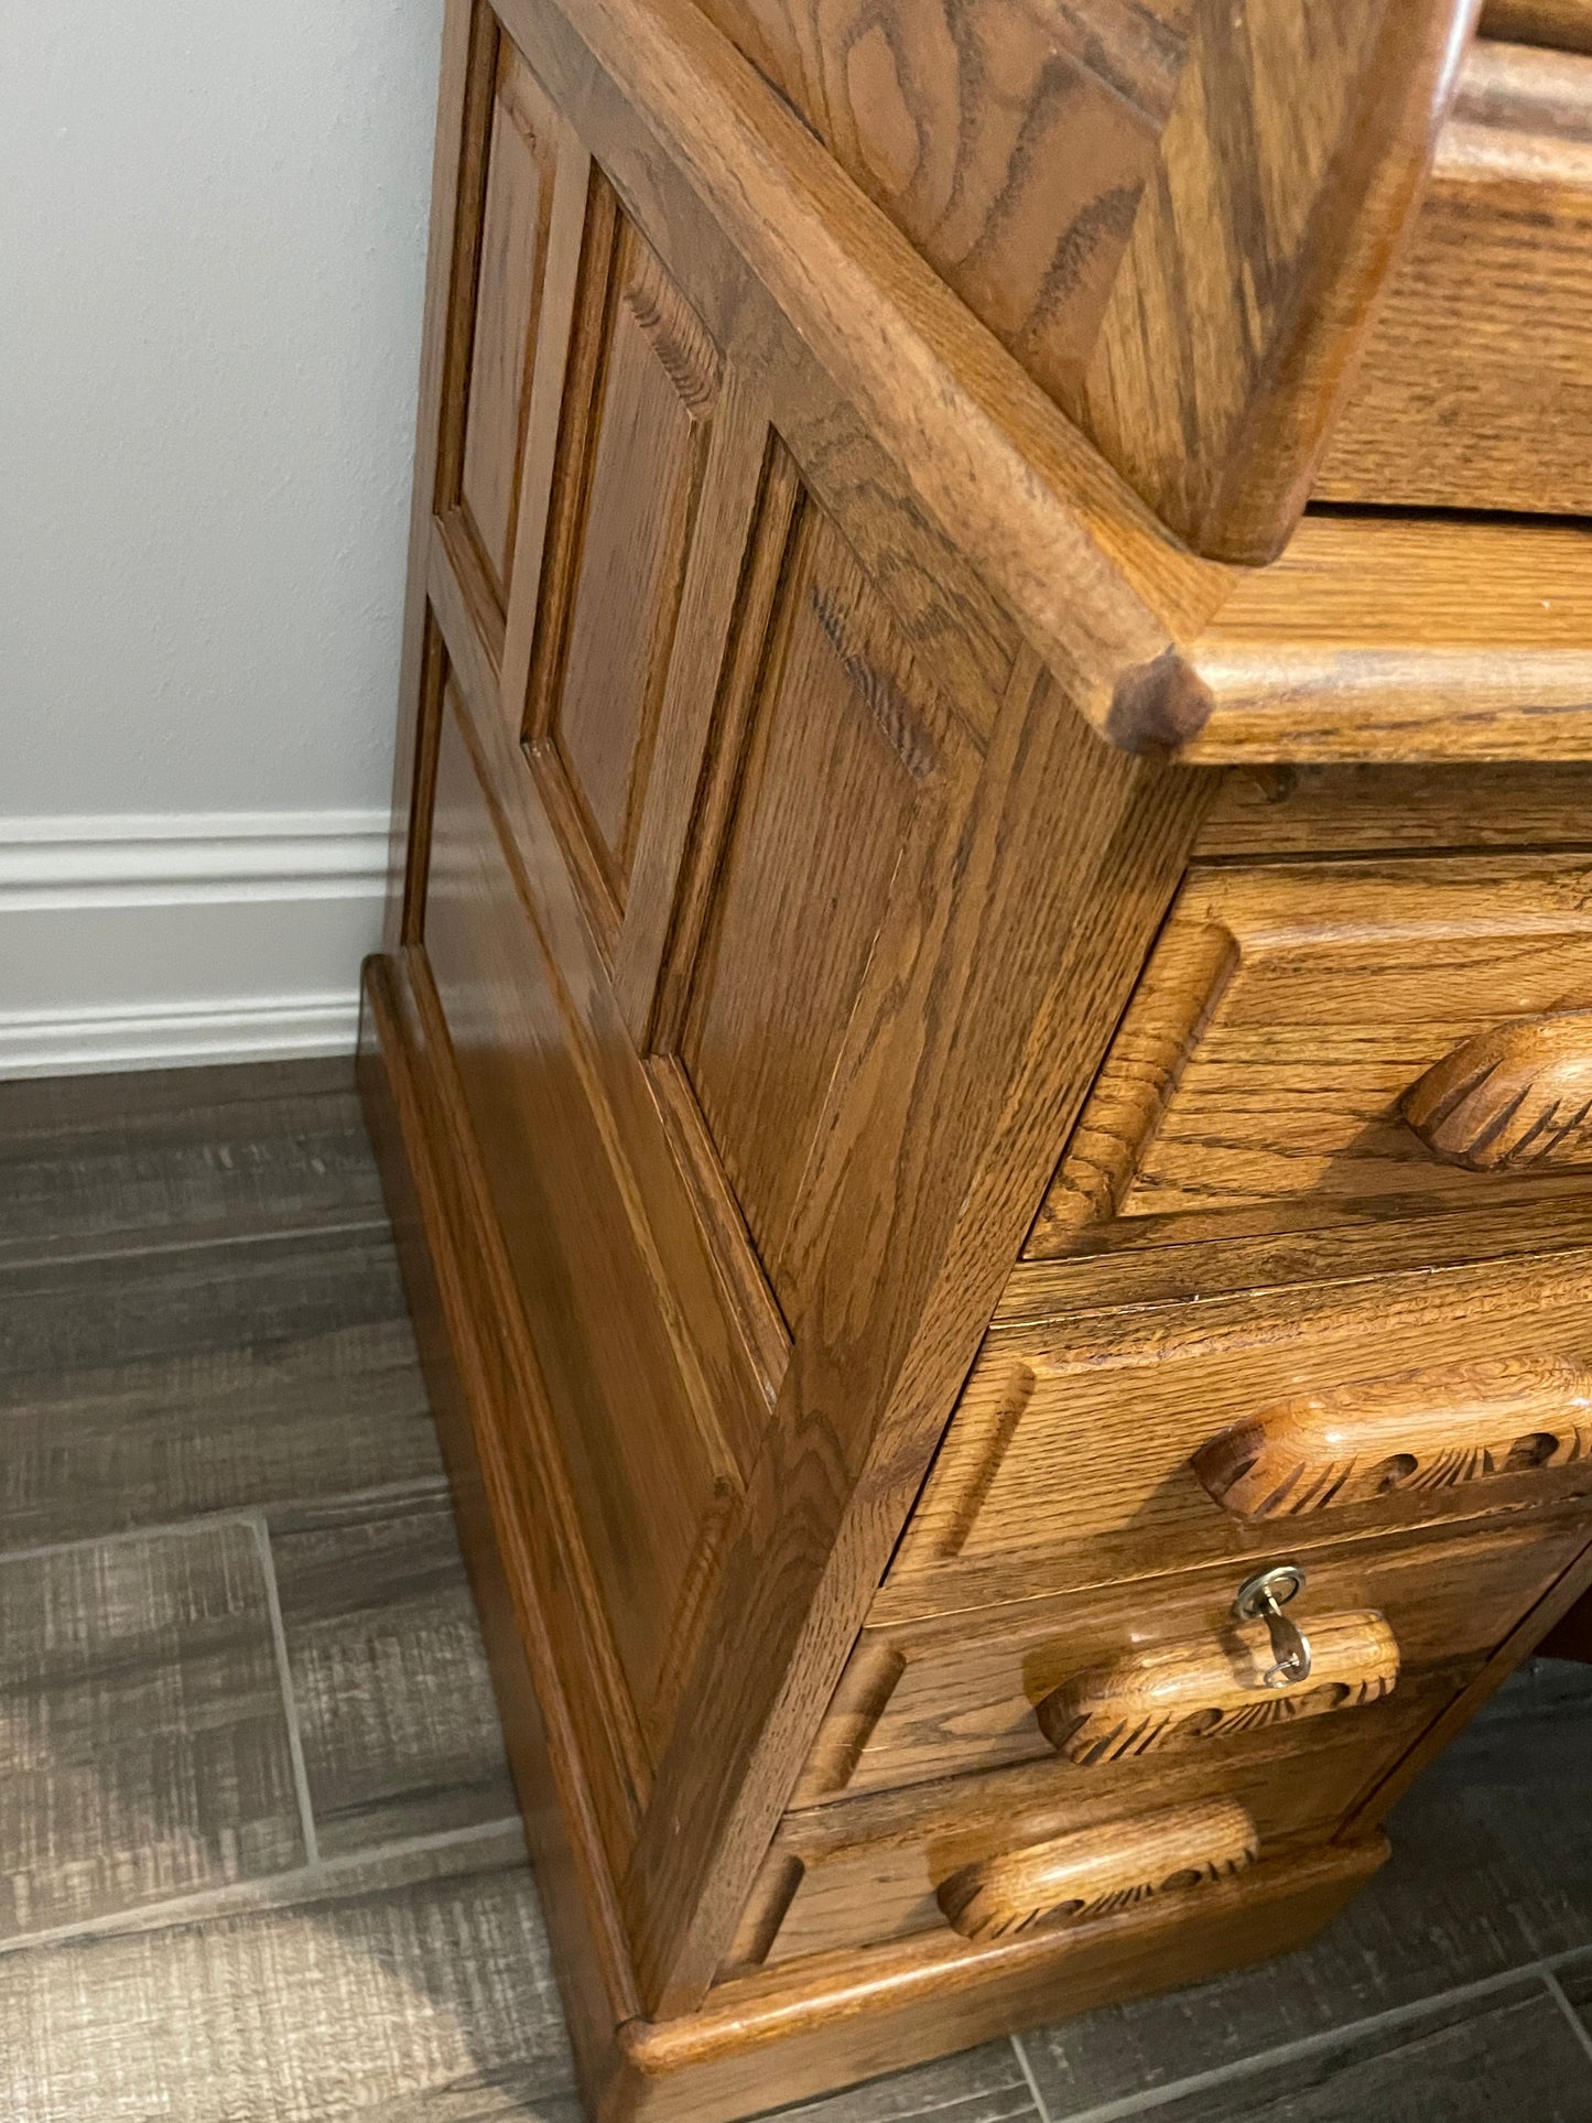
[[1586, 998], [1579, 856], [1195, 868], [1029, 1253], [1584, 1185]]

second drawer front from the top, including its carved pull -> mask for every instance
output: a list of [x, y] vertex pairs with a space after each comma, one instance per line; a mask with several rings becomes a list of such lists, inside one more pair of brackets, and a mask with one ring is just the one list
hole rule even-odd
[[[1590, 1287], [1569, 1250], [1000, 1325], [875, 1620], [1575, 1497]], [[1223, 1507], [1195, 1454], [1257, 1418], [1297, 1444], [1310, 1410], [1337, 1463]]]

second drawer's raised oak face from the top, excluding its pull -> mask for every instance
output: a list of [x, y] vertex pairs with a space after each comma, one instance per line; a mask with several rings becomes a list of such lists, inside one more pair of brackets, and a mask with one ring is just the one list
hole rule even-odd
[[1588, 1461], [1246, 1522], [1212, 1501], [1191, 1459], [1293, 1395], [1439, 1363], [1579, 1365], [1592, 1348], [1586, 1274], [1588, 1255], [1558, 1253], [996, 1327], [875, 1616], [1216, 1558], [1276, 1560], [1280, 1539], [1350, 1539], [1577, 1497]]

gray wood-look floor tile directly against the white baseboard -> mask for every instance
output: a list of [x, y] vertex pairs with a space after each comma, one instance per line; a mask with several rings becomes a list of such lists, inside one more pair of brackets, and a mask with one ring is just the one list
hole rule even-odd
[[0, 1267], [380, 1216], [346, 1059], [0, 1083]]

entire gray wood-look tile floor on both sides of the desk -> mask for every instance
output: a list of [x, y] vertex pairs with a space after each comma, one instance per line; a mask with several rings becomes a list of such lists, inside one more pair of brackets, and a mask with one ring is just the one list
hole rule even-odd
[[[1314, 1947], [804, 2123], [1592, 2123], [1592, 1669]], [[577, 2123], [346, 1064], [0, 1085], [0, 2123]]]

